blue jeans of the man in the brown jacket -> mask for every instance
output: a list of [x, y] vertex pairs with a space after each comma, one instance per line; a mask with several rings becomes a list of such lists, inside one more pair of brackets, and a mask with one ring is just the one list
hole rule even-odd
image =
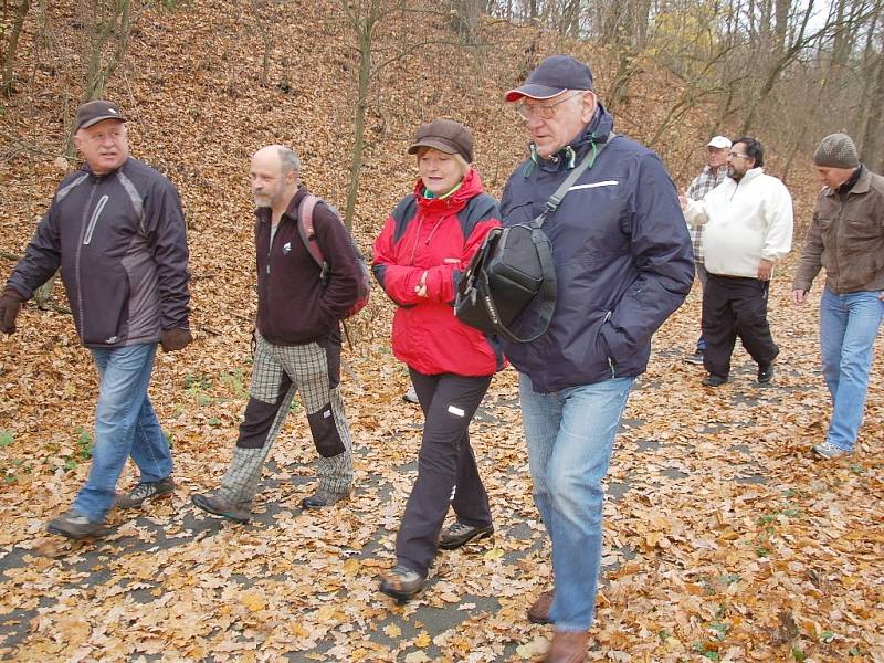
[[820, 301], [822, 375], [832, 394], [830, 442], [852, 451], [863, 422], [872, 354], [884, 316], [877, 292], [835, 295], [825, 288]]

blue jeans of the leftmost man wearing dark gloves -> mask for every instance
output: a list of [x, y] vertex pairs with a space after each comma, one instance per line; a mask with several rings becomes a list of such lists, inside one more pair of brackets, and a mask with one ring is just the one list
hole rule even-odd
[[143, 482], [169, 476], [172, 457], [147, 397], [156, 344], [91, 351], [101, 378], [92, 466], [72, 508], [102, 523], [114, 503], [117, 480], [129, 455], [138, 465]]

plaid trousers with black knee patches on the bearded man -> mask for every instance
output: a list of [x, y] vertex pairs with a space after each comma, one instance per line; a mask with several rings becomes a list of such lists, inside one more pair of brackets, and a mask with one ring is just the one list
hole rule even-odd
[[347, 493], [352, 485], [352, 440], [340, 398], [340, 343], [280, 346], [255, 334], [245, 418], [220, 493], [238, 504], [257, 492], [261, 472], [296, 391], [319, 452], [319, 490]]

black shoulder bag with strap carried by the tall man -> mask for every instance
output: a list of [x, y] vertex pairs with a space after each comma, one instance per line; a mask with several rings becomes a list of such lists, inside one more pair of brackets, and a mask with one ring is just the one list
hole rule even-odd
[[[552, 245], [543, 230], [544, 222], [613, 138], [611, 133], [598, 149], [589, 150], [530, 223], [488, 232], [457, 284], [454, 315], [461, 322], [511, 343], [529, 343], [546, 333], [556, 311], [557, 280]], [[536, 322], [526, 336], [517, 336], [511, 327], [535, 298]]]

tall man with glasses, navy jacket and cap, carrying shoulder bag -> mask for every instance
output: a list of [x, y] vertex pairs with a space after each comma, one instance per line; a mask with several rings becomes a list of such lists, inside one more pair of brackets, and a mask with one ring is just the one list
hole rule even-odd
[[[693, 255], [666, 170], [649, 149], [614, 137], [586, 64], [547, 57], [506, 99], [520, 101], [532, 146], [504, 190], [505, 227], [530, 222], [572, 168], [592, 164], [543, 227], [558, 278], [549, 329], [504, 348], [519, 371], [534, 498], [552, 541], [555, 589], [528, 618], [555, 624], [547, 661], [576, 663], [594, 619], [601, 481], [614, 434], [651, 336], [691, 288]], [[529, 309], [516, 334], [534, 323]]]

